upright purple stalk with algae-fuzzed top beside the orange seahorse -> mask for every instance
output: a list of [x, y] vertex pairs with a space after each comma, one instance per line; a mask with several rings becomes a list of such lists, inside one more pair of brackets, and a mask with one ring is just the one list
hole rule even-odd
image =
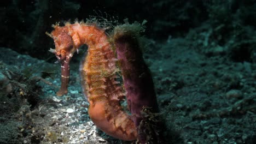
[[159, 112], [159, 108], [152, 76], [138, 43], [140, 29], [141, 25], [138, 23], [119, 26], [115, 29], [114, 44], [127, 92], [127, 104], [139, 132], [139, 142], [146, 143], [147, 136], [144, 133], [146, 126], [141, 123], [146, 118], [142, 113], [143, 107], [150, 107], [153, 113]]

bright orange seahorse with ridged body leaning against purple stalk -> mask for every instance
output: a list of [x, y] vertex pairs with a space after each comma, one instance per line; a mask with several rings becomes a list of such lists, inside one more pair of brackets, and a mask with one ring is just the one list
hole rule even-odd
[[[104, 30], [86, 23], [66, 23], [54, 26], [51, 32], [59, 61], [68, 61], [83, 44], [88, 45], [88, 54], [81, 65], [83, 92], [88, 99], [89, 116], [102, 131], [121, 140], [136, 140], [137, 130], [131, 116], [124, 112], [120, 100], [123, 88], [115, 81], [117, 67], [115, 53]], [[69, 71], [69, 70], [68, 70]], [[67, 93], [68, 75], [62, 76], [62, 86], [57, 95]]]

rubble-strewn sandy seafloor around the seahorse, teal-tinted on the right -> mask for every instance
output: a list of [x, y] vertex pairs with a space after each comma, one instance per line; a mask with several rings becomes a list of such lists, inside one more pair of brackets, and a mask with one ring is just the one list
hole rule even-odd
[[[222, 49], [195, 49], [185, 38], [151, 41], [144, 58], [173, 133], [166, 143], [256, 143], [255, 63], [232, 61]], [[0, 143], [131, 143], [89, 118], [79, 61], [71, 63], [68, 94], [56, 97], [59, 64], [0, 50]]]

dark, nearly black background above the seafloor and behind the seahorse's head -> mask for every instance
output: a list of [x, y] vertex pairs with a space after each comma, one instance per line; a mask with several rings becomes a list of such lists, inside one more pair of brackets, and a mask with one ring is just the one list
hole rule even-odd
[[[146, 19], [147, 31], [143, 34], [156, 41], [166, 41], [169, 36], [185, 37], [197, 27], [214, 29], [219, 26], [221, 30], [213, 34], [211, 41], [216, 41], [220, 46], [234, 37], [235, 41], [255, 40], [256, 6], [253, 0], [14, 0], [2, 1], [0, 9], [0, 46], [47, 61], [54, 59], [48, 52], [50, 47], [54, 48], [53, 40], [45, 35], [46, 31], [53, 30], [51, 25], [67, 20], [73, 22], [76, 18], [86, 20], [90, 16], [118, 21], [120, 24], [126, 18], [130, 22]], [[245, 56], [234, 60], [254, 61], [251, 58], [254, 46], [255, 43], [239, 44], [242, 50], [236, 46], [232, 50], [245, 53]]]

